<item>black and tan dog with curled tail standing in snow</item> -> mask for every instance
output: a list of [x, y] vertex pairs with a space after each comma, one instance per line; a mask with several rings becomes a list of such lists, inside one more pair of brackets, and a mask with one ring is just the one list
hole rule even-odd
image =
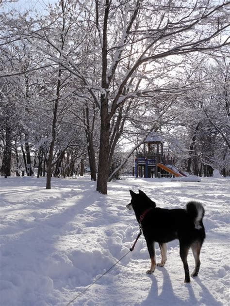
[[[156, 203], [148, 198], [141, 190], [136, 194], [130, 190], [131, 203], [126, 207], [134, 210], [136, 219], [142, 228], [151, 260], [148, 274], [152, 274], [157, 266], [164, 267], [167, 260], [166, 243], [178, 239], [180, 256], [183, 262], [185, 283], [190, 282], [187, 255], [190, 247], [195, 259], [195, 269], [192, 276], [197, 276], [200, 267], [200, 249], [205, 239], [203, 226], [204, 208], [201, 203], [190, 201], [186, 209], [163, 209], [156, 207]], [[156, 264], [155, 242], [159, 243], [161, 262]]]

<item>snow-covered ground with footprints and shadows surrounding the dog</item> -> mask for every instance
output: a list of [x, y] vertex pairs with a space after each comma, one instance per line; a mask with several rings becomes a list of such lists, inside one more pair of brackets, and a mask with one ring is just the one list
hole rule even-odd
[[[0, 178], [0, 305], [73, 306], [229, 305], [230, 179], [198, 182], [127, 178], [95, 191], [88, 177]], [[184, 208], [188, 200], [205, 207], [206, 240], [199, 276], [184, 284], [178, 241], [168, 244], [168, 260], [150, 267], [144, 237], [138, 234], [129, 189], [142, 189], [158, 206]], [[156, 245], [157, 261], [160, 250]], [[190, 272], [194, 268], [189, 254]]]

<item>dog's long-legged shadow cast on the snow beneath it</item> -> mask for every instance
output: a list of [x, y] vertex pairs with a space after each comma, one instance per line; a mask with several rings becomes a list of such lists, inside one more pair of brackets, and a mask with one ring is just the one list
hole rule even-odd
[[[222, 306], [220, 302], [217, 302], [213, 295], [210, 293], [210, 291], [202, 284], [201, 280], [199, 278], [193, 278], [191, 281], [196, 281], [197, 284], [200, 286], [202, 290], [202, 297], [201, 301], [197, 301], [197, 298], [193, 291], [192, 284], [182, 284], [181, 281], [181, 288], [182, 286], [185, 286], [188, 290], [188, 293], [186, 293], [187, 298], [180, 298], [179, 295], [175, 295], [173, 292], [173, 287], [171, 283], [170, 276], [167, 272], [167, 270], [164, 267], [157, 269], [157, 276], [155, 275], [149, 275], [149, 277], [152, 279], [151, 288], [148, 293], [148, 297], [143, 303], [141, 303], [141, 306], [148, 306], [154, 305], [157, 306], [165, 306], [165, 305], [177, 305], [177, 306], [187, 306], [187, 305], [193, 305], [198, 306], [201, 305], [202, 302], [208, 303], [207, 305], [212, 306]], [[163, 277], [163, 285], [162, 288], [158, 288], [158, 281], [157, 279], [159, 277]], [[181, 294], [183, 294], [181, 292]], [[204, 304], [205, 305], [205, 304]]]

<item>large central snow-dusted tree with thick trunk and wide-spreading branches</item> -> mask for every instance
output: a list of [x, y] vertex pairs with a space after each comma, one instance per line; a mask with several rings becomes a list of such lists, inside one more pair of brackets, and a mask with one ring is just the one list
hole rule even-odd
[[164, 77], [172, 61], [196, 52], [214, 54], [229, 44], [229, 5], [226, 0], [219, 5], [206, 0], [62, 0], [48, 17], [26, 18], [27, 26], [17, 29], [62, 73], [65, 69], [75, 77], [76, 95], [98, 107], [99, 192], [107, 193], [112, 156], [132, 106], [154, 98], [162, 87], [152, 81], [156, 75]]

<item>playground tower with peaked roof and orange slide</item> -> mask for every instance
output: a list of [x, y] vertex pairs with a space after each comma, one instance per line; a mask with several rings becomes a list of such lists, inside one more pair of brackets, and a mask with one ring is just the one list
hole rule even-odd
[[[135, 177], [186, 177], [174, 167], [175, 158], [164, 154], [164, 139], [152, 131], [143, 143], [143, 153], [137, 153], [135, 158]], [[146, 150], [148, 146], [148, 150]]]

